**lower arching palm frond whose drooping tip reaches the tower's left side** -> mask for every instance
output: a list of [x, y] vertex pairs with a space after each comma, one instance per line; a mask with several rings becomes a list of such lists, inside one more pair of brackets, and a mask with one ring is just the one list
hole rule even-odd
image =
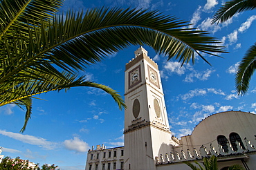
[[86, 81], [84, 76], [77, 78], [77, 75], [72, 75], [70, 73], [62, 74], [66, 77], [65, 79], [60, 79], [54, 75], [44, 75], [44, 79], [40, 80], [30, 78], [25, 79], [22, 77], [19, 79], [19, 77], [17, 77], [17, 79], [15, 79], [9, 86], [8, 83], [1, 84], [0, 106], [49, 91], [67, 91], [69, 88], [86, 86], [100, 88], [106, 93], [109, 93], [121, 110], [126, 107], [120, 94], [112, 88], [95, 82]]

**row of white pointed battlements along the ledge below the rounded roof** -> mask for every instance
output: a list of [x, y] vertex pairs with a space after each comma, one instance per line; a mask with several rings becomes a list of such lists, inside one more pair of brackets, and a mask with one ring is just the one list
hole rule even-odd
[[160, 158], [158, 158], [158, 156], [155, 157], [156, 164], [168, 164], [168, 163], [183, 162], [183, 161], [189, 161], [189, 160], [201, 160], [204, 157], [210, 158], [211, 155], [215, 155], [215, 156], [236, 155], [236, 154], [238, 155], [241, 153], [256, 151], [255, 146], [250, 144], [250, 141], [246, 140], [246, 138], [244, 140], [245, 149], [241, 147], [241, 144], [239, 142], [236, 142], [236, 144], [237, 144], [237, 151], [234, 151], [234, 149], [232, 149], [231, 144], [227, 144], [228, 152], [224, 151], [221, 144], [218, 144], [219, 151], [216, 151], [216, 149], [214, 149], [212, 144], [210, 144], [209, 150], [207, 150], [207, 148], [202, 145], [199, 148], [199, 151], [197, 151], [197, 149], [194, 148], [193, 151], [190, 151], [189, 149], [187, 149], [187, 151], [181, 150], [180, 152], [175, 151], [174, 153], [172, 152], [169, 154], [165, 153], [165, 154], [161, 154]]

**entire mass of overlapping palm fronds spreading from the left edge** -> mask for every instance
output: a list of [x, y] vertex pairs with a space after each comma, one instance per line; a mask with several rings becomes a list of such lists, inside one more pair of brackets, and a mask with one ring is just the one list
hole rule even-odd
[[[113, 89], [78, 75], [86, 67], [131, 45], [147, 45], [167, 59], [194, 63], [196, 55], [225, 53], [207, 32], [158, 11], [95, 8], [56, 15], [63, 0], [0, 0], [0, 106], [16, 104], [31, 115], [34, 95], [91, 86]], [[208, 62], [209, 63], [209, 62]]]

